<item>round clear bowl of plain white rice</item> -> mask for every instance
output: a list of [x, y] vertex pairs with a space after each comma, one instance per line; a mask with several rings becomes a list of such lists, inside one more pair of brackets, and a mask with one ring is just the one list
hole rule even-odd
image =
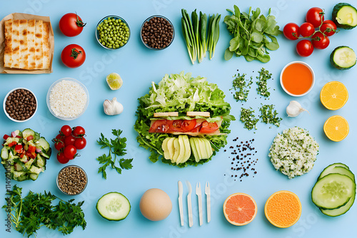
[[49, 87], [47, 106], [56, 118], [74, 120], [88, 107], [89, 93], [83, 83], [74, 78], [61, 78]]

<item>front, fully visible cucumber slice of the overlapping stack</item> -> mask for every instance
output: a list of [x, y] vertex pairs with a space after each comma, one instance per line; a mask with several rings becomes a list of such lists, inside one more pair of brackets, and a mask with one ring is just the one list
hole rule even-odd
[[311, 191], [311, 199], [318, 207], [336, 209], [346, 205], [355, 192], [355, 182], [351, 177], [333, 173], [316, 182]]

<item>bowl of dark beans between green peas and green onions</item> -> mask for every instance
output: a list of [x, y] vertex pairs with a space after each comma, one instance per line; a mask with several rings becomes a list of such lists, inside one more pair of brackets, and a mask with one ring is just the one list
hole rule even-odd
[[147, 48], [163, 50], [174, 41], [174, 25], [165, 16], [150, 16], [141, 26], [140, 37]]

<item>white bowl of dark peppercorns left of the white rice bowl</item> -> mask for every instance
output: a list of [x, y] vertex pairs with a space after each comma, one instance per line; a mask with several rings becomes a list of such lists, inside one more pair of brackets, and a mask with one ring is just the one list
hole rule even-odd
[[3, 108], [9, 119], [24, 123], [35, 115], [37, 99], [29, 89], [14, 88], [5, 96]]

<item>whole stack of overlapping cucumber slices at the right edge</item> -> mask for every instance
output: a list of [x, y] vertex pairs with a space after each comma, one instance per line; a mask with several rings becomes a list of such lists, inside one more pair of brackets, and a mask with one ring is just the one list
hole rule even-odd
[[311, 191], [313, 203], [330, 217], [345, 214], [352, 207], [355, 197], [355, 175], [343, 163], [328, 165]]

